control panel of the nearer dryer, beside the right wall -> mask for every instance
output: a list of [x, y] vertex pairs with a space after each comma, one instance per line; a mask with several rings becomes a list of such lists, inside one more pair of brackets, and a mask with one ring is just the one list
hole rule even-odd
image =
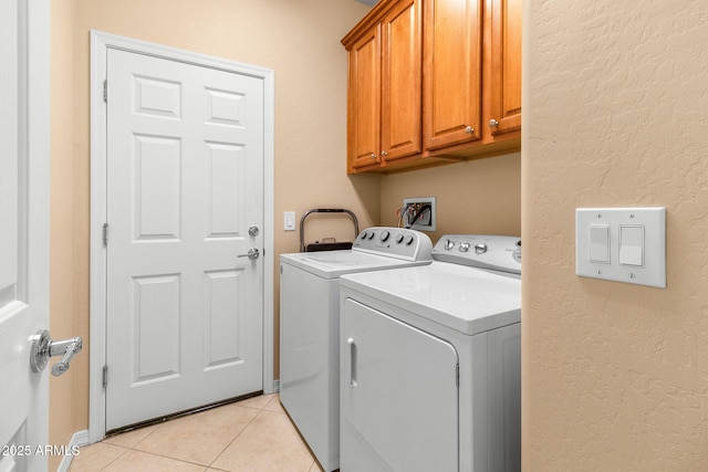
[[521, 274], [521, 238], [494, 234], [446, 234], [433, 248], [433, 259]]

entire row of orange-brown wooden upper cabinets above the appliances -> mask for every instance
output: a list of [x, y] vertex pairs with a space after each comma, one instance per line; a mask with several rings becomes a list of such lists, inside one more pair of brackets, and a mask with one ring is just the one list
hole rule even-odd
[[342, 40], [347, 172], [518, 150], [521, 1], [381, 0], [372, 8]]

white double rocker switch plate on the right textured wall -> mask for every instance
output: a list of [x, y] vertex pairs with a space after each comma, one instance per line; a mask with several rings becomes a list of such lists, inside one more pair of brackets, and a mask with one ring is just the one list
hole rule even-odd
[[577, 208], [575, 273], [666, 289], [666, 208]]

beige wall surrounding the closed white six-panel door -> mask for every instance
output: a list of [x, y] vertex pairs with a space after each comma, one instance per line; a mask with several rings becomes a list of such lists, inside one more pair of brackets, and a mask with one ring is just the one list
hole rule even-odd
[[[52, 10], [52, 335], [85, 340], [70, 374], [51, 384], [50, 440], [65, 444], [88, 423], [91, 29], [275, 71], [278, 254], [299, 248], [298, 232], [283, 232], [284, 210], [299, 218], [314, 207], [346, 207], [362, 225], [376, 222], [379, 179], [345, 175], [346, 53], [340, 39], [366, 6], [354, 0], [53, 0]], [[340, 224], [319, 232], [323, 225], [312, 227], [314, 239], [337, 235]], [[346, 233], [340, 239], [351, 239], [351, 227], [342, 227]]]

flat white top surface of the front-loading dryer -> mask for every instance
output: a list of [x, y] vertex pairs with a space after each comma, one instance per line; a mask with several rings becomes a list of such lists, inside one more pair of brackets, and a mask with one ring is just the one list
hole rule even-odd
[[519, 279], [464, 265], [435, 261], [343, 275], [340, 284], [466, 335], [521, 321]]

